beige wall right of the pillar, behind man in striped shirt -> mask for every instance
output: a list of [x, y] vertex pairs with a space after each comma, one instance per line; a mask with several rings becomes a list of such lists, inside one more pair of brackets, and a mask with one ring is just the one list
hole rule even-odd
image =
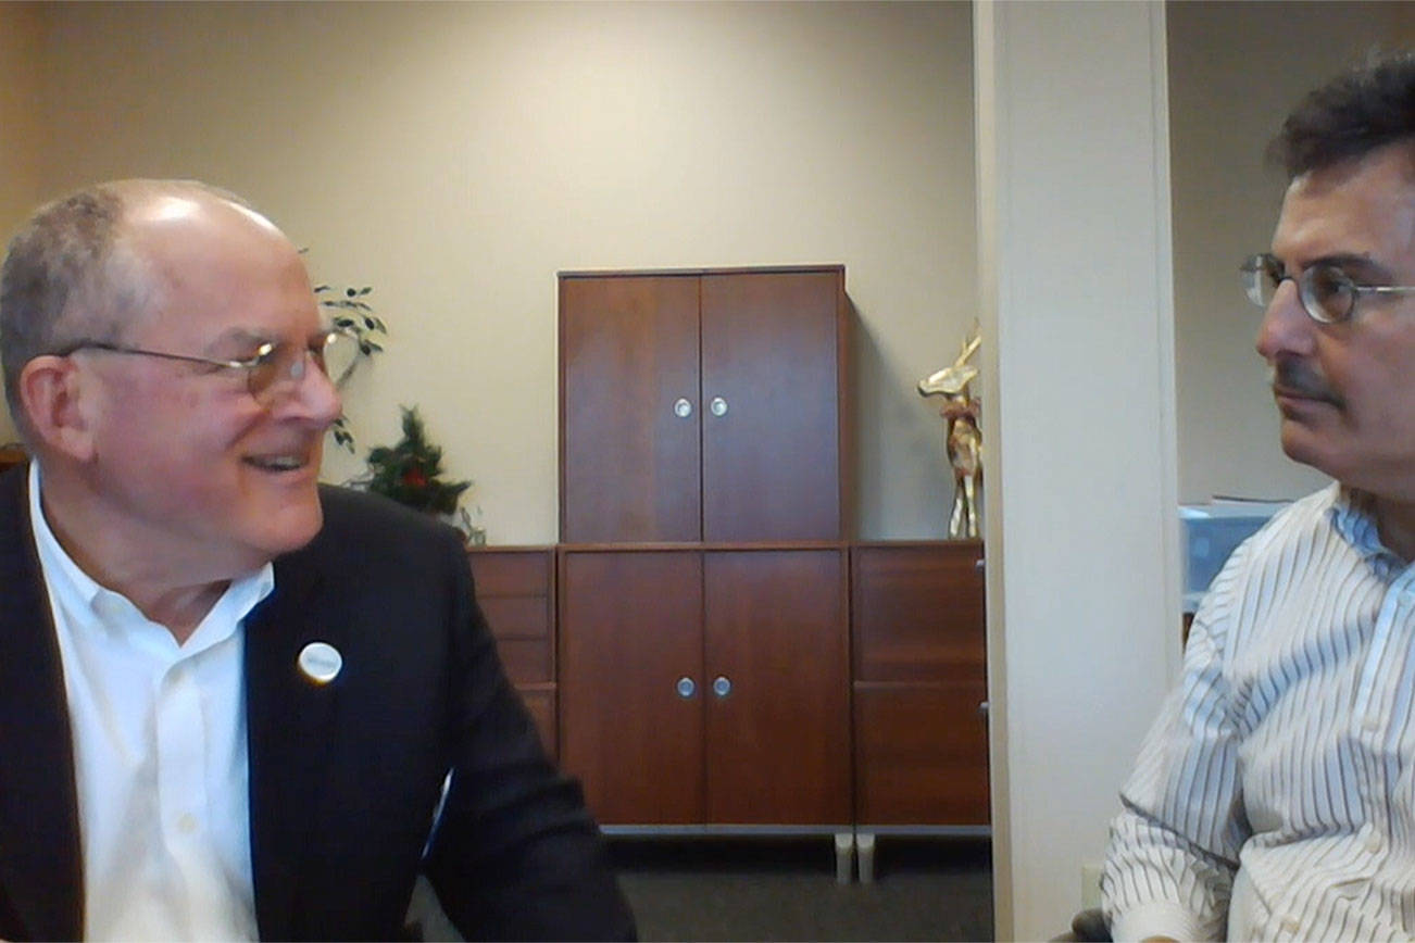
[[1238, 263], [1264, 252], [1286, 181], [1262, 151], [1307, 89], [1365, 49], [1415, 42], [1408, 3], [1172, 3], [1180, 500], [1295, 498], [1324, 479], [1278, 447]]

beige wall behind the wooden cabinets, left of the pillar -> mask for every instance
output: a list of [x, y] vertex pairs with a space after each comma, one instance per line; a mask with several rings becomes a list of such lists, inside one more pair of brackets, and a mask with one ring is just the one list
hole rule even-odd
[[[42, 189], [200, 177], [393, 336], [361, 447], [420, 404], [494, 543], [556, 536], [555, 273], [843, 263], [862, 533], [942, 533], [914, 382], [975, 317], [971, 8], [115, 4], [45, 8]], [[327, 475], [358, 464], [335, 457]]]

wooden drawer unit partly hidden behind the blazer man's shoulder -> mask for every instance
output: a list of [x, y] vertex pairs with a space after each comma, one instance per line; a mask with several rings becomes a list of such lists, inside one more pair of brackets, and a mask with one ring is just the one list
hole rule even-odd
[[555, 551], [471, 547], [467, 556], [501, 663], [535, 718], [546, 752], [556, 756]]

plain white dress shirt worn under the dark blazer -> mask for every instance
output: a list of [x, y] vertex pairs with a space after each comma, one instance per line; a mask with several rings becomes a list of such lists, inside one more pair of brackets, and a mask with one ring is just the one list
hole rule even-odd
[[253, 940], [243, 619], [235, 580], [185, 643], [64, 551], [30, 464], [30, 519], [64, 663], [91, 940]]

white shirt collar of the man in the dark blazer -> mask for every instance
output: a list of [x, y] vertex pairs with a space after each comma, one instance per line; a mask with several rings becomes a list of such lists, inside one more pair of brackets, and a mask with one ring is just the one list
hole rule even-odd
[[[147, 621], [132, 599], [100, 585], [64, 550], [44, 517], [40, 500], [40, 462], [30, 462], [30, 526], [40, 553], [40, 566], [51, 591], [61, 598], [81, 602], [93, 619], [108, 629], [119, 629], [137, 619]], [[228, 638], [250, 611], [275, 590], [275, 567], [269, 561], [231, 581], [226, 591], [202, 618], [183, 649], [207, 649]]]

